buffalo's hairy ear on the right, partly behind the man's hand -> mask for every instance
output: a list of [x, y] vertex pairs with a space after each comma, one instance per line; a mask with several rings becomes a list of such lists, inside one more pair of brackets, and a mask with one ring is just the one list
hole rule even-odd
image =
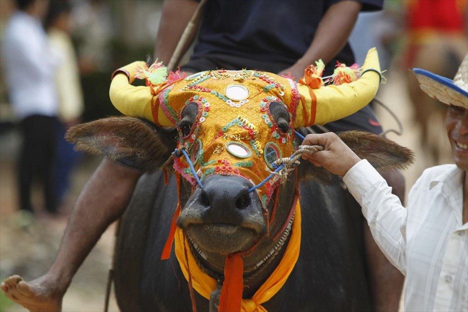
[[[379, 171], [388, 169], [405, 169], [413, 163], [413, 152], [397, 143], [371, 132], [344, 131], [337, 133], [343, 142], [361, 159], [367, 161]], [[299, 178], [301, 181], [315, 178], [324, 184], [339, 181], [323, 167], [317, 167], [309, 161], [301, 161]]]

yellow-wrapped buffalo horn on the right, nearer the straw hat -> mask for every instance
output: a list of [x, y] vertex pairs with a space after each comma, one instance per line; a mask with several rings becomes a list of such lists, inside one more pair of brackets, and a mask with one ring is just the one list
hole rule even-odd
[[[297, 108], [295, 127], [325, 124], [338, 120], [369, 104], [375, 97], [380, 83], [380, 75], [377, 74], [380, 72], [380, 65], [375, 48], [367, 52], [362, 72], [368, 69], [373, 69], [376, 72], [365, 72], [358, 80], [340, 86], [328, 85], [312, 90], [308, 86], [298, 84], [303, 104]], [[316, 98], [316, 105], [314, 105], [311, 93]], [[304, 115], [309, 122], [305, 125], [302, 124]]]

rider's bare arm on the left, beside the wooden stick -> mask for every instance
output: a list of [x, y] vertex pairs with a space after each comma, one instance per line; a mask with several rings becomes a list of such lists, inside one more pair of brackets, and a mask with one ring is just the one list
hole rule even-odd
[[[195, 0], [166, 0], [162, 7], [161, 20], [159, 22], [154, 57], [163, 64], [168, 65], [174, 53], [177, 43], [184, 32], [185, 27], [197, 9], [198, 1]], [[200, 19], [198, 19], [196, 24]], [[193, 27], [190, 40], [187, 40], [182, 51], [185, 53], [195, 39], [198, 27]], [[183, 55], [183, 53], [182, 53]], [[172, 70], [173, 68], [168, 68]]]

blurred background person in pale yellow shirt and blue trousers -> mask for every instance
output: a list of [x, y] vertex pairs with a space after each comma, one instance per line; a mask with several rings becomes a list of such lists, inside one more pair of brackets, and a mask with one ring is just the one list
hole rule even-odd
[[56, 192], [59, 205], [65, 204], [70, 174], [80, 156], [80, 153], [73, 149], [73, 144], [65, 140], [65, 132], [71, 126], [81, 122], [84, 110], [78, 61], [70, 36], [70, 11], [68, 1], [51, 0], [45, 20], [50, 45], [60, 58], [60, 65], [54, 80], [59, 96], [58, 116], [60, 119], [56, 168]]

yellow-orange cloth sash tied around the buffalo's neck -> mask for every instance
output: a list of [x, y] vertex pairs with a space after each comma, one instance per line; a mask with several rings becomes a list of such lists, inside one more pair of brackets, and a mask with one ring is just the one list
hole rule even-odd
[[[193, 288], [203, 297], [210, 300], [210, 294], [216, 288], [216, 280], [211, 276], [203, 272], [197, 265], [195, 258], [190, 251], [188, 240], [184, 239], [184, 232], [181, 228], [177, 228], [175, 237], [175, 254], [179, 261], [182, 273], [185, 279], [189, 279], [189, 268], [190, 275], [192, 276]], [[184, 245], [185, 244], [185, 245]], [[270, 300], [276, 293], [283, 287], [284, 283], [291, 274], [294, 266], [296, 265], [299, 257], [299, 251], [301, 247], [301, 207], [299, 201], [296, 205], [296, 211], [294, 215], [294, 222], [292, 225], [291, 237], [289, 239], [288, 246], [284, 251], [283, 258], [280, 263], [263, 283], [262, 286], [255, 292], [251, 299], [242, 299], [242, 312], [266, 312], [265, 308], [261, 304]], [[188, 263], [185, 258], [184, 248], [187, 250]]]

